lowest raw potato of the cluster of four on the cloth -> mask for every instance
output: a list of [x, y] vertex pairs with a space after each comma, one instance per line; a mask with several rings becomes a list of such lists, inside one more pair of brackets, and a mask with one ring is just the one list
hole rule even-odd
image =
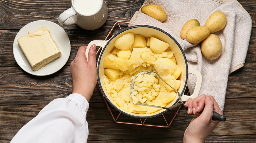
[[210, 34], [201, 43], [201, 52], [207, 59], [218, 58], [222, 52], [222, 43], [218, 35]]

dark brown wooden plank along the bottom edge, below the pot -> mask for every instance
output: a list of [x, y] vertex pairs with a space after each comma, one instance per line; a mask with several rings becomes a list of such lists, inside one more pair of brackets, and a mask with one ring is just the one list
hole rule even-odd
[[[226, 99], [224, 116], [225, 122], [221, 122], [211, 136], [229, 135], [255, 135], [256, 134], [256, 115], [252, 111], [256, 108], [256, 98], [245, 98], [241, 100]], [[3, 139], [10, 140], [12, 136], [29, 120], [35, 117], [45, 104], [38, 105], [3, 105], [0, 106]], [[234, 109], [234, 106], [236, 107]], [[117, 112], [117, 111], [114, 111]], [[168, 112], [167, 112], [168, 113]], [[123, 115], [127, 118], [126, 115]], [[156, 117], [156, 118], [160, 118]], [[89, 124], [88, 140], [118, 140], [122, 139], [143, 139], [143, 138], [162, 138], [182, 137], [185, 128], [188, 126], [192, 115], [187, 116], [186, 110], [181, 108], [178, 117], [169, 128], [147, 127], [140, 125], [127, 125], [113, 122], [110, 113], [106, 110], [103, 103], [90, 103], [87, 113]], [[160, 120], [157, 119], [157, 122]], [[154, 130], [154, 132], [152, 132]], [[144, 135], [141, 135], [143, 133]], [[155, 134], [158, 133], [158, 134]], [[255, 138], [254, 138], [255, 139]]]

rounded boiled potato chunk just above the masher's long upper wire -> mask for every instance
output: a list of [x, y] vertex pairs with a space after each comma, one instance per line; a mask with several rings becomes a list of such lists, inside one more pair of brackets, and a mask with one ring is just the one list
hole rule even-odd
[[156, 60], [155, 69], [160, 75], [168, 75], [176, 69], [176, 64], [169, 58], [159, 58]]

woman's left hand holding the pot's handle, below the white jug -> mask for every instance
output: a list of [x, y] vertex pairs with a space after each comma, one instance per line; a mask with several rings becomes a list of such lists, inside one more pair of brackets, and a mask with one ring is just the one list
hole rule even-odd
[[72, 93], [79, 93], [89, 102], [93, 95], [97, 82], [96, 76], [96, 45], [93, 44], [89, 50], [88, 62], [85, 56], [86, 46], [81, 46], [75, 59], [72, 61]]

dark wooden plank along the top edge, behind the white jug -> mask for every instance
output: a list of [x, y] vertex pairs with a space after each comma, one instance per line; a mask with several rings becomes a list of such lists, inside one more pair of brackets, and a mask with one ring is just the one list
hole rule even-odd
[[[130, 21], [132, 15], [139, 10], [144, 1], [134, 0], [132, 3], [129, 0], [123, 1], [107, 1], [109, 9], [108, 21]], [[117, 7], [117, 5], [122, 7]], [[1, 29], [20, 29], [26, 24], [36, 20], [48, 20], [58, 23], [58, 16], [71, 7], [70, 0], [63, 1], [37, 1], [37, 0], [13, 0], [0, 1], [0, 9], [6, 15], [0, 17]], [[110, 29], [112, 25], [101, 27], [100, 29]], [[112, 22], [113, 23], [113, 22]], [[66, 26], [64, 29], [76, 29], [77, 25]], [[81, 30], [81, 28], [79, 28]]]

